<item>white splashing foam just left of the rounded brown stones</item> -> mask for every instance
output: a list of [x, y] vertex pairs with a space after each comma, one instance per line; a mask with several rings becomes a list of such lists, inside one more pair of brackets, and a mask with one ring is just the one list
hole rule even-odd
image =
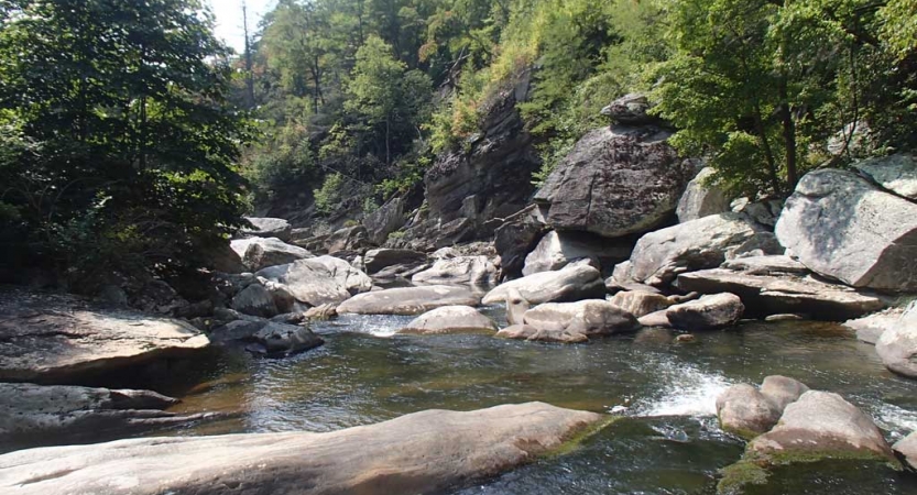
[[659, 398], [635, 408], [641, 416], [714, 416], [717, 397], [732, 385], [687, 364], [663, 365], [659, 371], [667, 385]]

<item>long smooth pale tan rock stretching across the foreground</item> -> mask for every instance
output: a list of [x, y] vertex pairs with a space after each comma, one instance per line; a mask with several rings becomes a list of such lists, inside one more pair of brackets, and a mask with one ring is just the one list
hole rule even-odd
[[9, 495], [440, 494], [549, 454], [605, 417], [543, 403], [427, 410], [328, 433], [120, 440], [0, 455]]

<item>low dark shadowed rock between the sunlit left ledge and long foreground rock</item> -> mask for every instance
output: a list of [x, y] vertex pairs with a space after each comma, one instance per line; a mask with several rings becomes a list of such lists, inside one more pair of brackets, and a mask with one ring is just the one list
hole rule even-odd
[[40, 444], [183, 425], [207, 414], [166, 413], [178, 400], [150, 391], [0, 383], [0, 443]]

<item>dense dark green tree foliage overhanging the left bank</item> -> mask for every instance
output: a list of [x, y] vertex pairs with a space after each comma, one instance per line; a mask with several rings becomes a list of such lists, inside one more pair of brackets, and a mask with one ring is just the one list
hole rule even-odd
[[7, 248], [77, 272], [179, 267], [238, 224], [249, 129], [199, 2], [18, 0], [2, 15]]

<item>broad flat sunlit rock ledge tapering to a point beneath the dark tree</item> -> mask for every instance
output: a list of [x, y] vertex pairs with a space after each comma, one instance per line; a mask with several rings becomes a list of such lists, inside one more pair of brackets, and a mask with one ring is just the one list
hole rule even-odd
[[0, 288], [0, 381], [63, 383], [209, 345], [184, 321], [68, 295]]

